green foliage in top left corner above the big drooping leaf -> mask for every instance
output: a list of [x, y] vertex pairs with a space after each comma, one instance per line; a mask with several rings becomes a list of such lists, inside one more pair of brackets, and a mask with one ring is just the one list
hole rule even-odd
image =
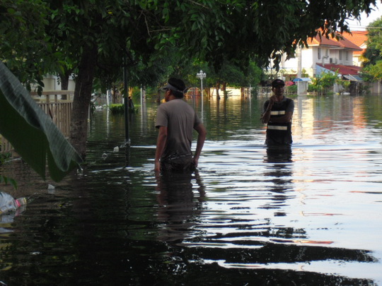
[[59, 54], [46, 33], [50, 9], [42, 0], [1, 0], [0, 59], [30, 90], [42, 90], [46, 73], [57, 71]]

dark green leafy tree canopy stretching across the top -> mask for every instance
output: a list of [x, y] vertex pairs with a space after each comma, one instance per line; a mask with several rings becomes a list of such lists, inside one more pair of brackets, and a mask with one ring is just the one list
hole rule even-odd
[[325, 35], [347, 30], [347, 18], [369, 13], [374, 4], [374, 0], [4, 0], [1, 59], [22, 82], [40, 80], [44, 73], [58, 72], [59, 66], [69, 65], [76, 72], [83, 46], [91, 43], [97, 46], [100, 76], [120, 68], [123, 55], [135, 66], [169, 45], [217, 68], [224, 58], [240, 65], [254, 54], [265, 63], [283, 51], [292, 55], [296, 44], [316, 35], [318, 28]]

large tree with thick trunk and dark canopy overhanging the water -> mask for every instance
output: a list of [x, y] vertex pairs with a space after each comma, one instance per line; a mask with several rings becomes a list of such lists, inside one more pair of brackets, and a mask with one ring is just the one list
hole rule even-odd
[[[4, 1], [13, 4], [13, 10], [6, 9], [4, 13], [18, 14], [25, 12], [21, 11], [22, 6], [30, 0]], [[318, 32], [325, 36], [335, 30], [347, 30], [347, 18], [357, 18], [362, 11], [369, 13], [371, 4], [375, 4], [375, 0], [32, 2], [44, 7], [41, 19], [36, 21], [46, 27], [45, 41], [50, 53], [70, 59], [76, 73], [70, 138], [83, 157], [88, 105], [93, 80], [100, 69], [120, 69], [124, 62], [131, 68], [137, 61], [152, 59], [153, 54], [168, 46], [176, 47], [185, 57], [200, 57], [216, 70], [224, 64], [223, 59], [243, 65], [254, 55], [264, 64], [269, 59], [277, 64], [282, 52], [293, 55], [298, 44], [306, 43], [308, 37]], [[19, 31], [8, 26], [15, 38], [20, 39], [16, 36]], [[27, 30], [33, 33], [34, 28], [30, 25]], [[35, 61], [37, 66], [43, 59], [45, 56]]]

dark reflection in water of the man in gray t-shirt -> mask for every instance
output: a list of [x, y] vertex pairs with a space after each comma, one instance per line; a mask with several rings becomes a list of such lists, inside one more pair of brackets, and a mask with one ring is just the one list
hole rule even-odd
[[[194, 196], [194, 184], [198, 197]], [[200, 203], [204, 200], [204, 186], [199, 173], [164, 174], [157, 178], [158, 221], [163, 223], [158, 239], [164, 242], [182, 243], [192, 232], [200, 215]]]

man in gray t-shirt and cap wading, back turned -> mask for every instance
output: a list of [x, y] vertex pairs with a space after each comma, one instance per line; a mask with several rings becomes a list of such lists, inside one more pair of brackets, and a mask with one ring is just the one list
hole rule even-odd
[[[197, 167], [207, 131], [194, 109], [183, 100], [185, 83], [178, 78], [169, 78], [162, 88], [166, 102], [159, 105], [156, 114], [155, 172], [191, 171]], [[197, 146], [192, 155], [192, 131], [196, 130]]]

